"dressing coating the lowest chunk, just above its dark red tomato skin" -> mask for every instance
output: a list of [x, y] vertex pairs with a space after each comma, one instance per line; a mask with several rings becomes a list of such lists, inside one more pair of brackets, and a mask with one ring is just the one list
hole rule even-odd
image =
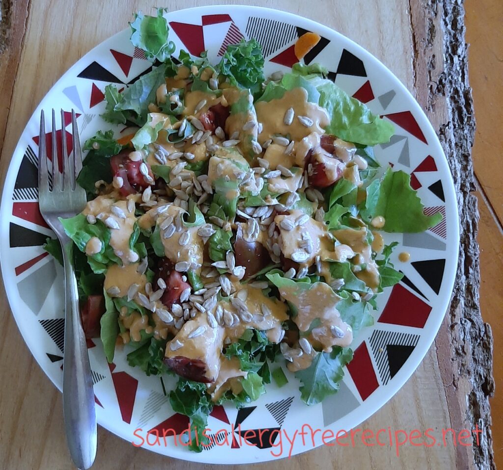
[[[204, 328], [203, 334], [189, 338], [189, 335], [199, 327]], [[200, 313], [194, 319], [187, 321], [175, 338], [167, 343], [165, 357], [184, 357], [203, 361], [206, 364], [205, 376], [210, 382], [214, 382], [220, 371], [224, 333], [222, 326], [212, 328], [208, 324], [206, 315]], [[182, 343], [182, 346], [172, 350], [171, 343], [174, 341], [176, 343], [177, 340]]]

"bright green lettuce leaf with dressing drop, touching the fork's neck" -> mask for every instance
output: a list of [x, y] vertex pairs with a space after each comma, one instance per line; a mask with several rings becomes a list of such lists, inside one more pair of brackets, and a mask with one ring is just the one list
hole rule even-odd
[[82, 252], [86, 252], [86, 244], [92, 237], [96, 237], [102, 244], [101, 251], [93, 256], [88, 256], [88, 262], [95, 273], [103, 273], [110, 263], [120, 264], [120, 259], [114, 254], [110, 246], [110, 229], [101, 221], [95, 224], [87, 221], [84, 214], [80, 213], [74, 217], [63, 219], [59, 217], [61, 224], [73, 243]]

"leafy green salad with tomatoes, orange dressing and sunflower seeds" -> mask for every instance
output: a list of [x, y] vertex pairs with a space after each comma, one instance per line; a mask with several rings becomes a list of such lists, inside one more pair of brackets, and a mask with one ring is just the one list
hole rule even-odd
[[[163, 13], [130, 23], [153, 68], [105, 88], [110, 125], [85, 143], [77, 180], [88, 203], [61, 223], [86, 335], [110, 363], [124, 350], [146, 375], [178, 379], [165, 393], [200, 451], [217, 404], [289, 378], [307, 405], [336, 393], [376, 296], [402, 277], [382, 232], [442, 216], [374, 158], [391, 123], [302, 62], [315, 34], [266, 78], [255, 39], [215, 65], [176, 53]], [[45, 248], [60, 259], [58, 242]]]

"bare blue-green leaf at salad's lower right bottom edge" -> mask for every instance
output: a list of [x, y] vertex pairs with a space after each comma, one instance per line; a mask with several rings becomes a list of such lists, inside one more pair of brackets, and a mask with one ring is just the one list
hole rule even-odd
[[344, 377], [343, 368], [353, 359], [350, 348], [334, 346], [331, 352], [319, 352], [311, 365], [295, 373], [302, 382], [300, 398], [307, 405], [315, 405], [325, 397], [337, 393]]

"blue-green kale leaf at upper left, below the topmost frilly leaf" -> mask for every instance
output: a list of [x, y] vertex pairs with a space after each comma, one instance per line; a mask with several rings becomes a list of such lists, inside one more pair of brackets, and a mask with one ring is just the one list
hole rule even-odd
[[131, 122], [143, 126], [147, 122], [148, 105], [155, 101], [155, 92], [164, 83], [166, 67], [166, 64], [161, 64], [142, 75], [122, 93], [118, 92], [115, 85], [107, 85], [105, 87], [107, 105], [102, 118], [115, 124]]

